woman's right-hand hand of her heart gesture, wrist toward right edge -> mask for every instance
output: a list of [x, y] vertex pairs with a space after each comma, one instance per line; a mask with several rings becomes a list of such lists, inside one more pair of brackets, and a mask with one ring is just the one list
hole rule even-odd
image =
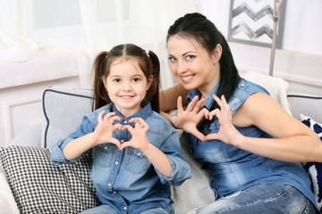
[[216, 139], [221, 140], [226, 144], [233, 144], [239, 139], [239, 137], [242, 137], [242, 134], [233, 126], [232, 110], [229, 108], [229, 105], [225, 100], [225, 95], [222, 95], [221, 99], [216, 95], [213, 95], [213, 97], [221, 110], [216, 109], [209, 112], [208, 119], [211, 120], [216, 116], [219, 120], [220, 128], [217, 133], [208, 134], [205, 137], [205, 140]]

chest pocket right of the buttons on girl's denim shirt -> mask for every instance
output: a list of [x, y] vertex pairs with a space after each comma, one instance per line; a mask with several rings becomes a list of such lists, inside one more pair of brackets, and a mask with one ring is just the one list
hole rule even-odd
[[125, 169], [133, 175], [145, 174], [150, 162], [140, 150], [129, 147]]

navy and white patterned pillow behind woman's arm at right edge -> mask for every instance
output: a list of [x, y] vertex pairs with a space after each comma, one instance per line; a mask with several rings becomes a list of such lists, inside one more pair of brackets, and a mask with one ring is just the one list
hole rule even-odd
[[[322, 141], [322, 124], [316, 122], [307, 116], [300, 115], [301, 122], [311, 128]], [[307, 170], [311, 179], [311, 188], [318, 203], [318, 210], [322, 211], [322, 163], [321, 162], [305, 162], [303, 167]]]

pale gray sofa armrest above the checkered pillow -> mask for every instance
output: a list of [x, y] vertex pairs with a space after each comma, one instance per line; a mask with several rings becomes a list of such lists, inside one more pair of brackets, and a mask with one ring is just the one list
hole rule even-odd
[[5, 147], [10, 145], [24, 145], [24, 146], [41, 146], [41, 123], [36, 123], [30, 128], [22, 131], [21, 134], [15, 136], [12, 141], [5, 145]]

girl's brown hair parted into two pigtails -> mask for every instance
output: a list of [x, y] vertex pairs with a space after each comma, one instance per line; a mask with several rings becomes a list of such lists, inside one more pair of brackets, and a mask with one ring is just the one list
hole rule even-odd
[[145, 50], [133, 44], [116, 45], [110, 52], [102, 52], [97, 55], [94, 62], [93, 111], [107, 103], [111, 103], [111, 99], [107, 95], [103, 78], [108, 76], [111, 63], [120, 58], [124, 58], [124, 60], [137, 60], [140, 69], [143, 71], [147, 80], [149, 80], [151, 75], [153, 76], [153, 81], [148, 88], [145, 100], [148, 100], [151, 103], [153, 111], [159, 112], [158, 94], [160, 86], [160, 62], [157, 58], [157, 54], [152, 51], [146, 53]]

